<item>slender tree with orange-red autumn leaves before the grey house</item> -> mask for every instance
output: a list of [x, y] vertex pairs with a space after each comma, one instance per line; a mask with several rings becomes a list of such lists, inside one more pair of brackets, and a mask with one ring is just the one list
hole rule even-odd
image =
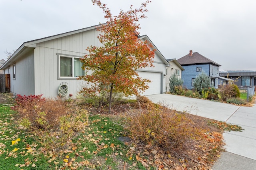
[[82, 92], [97, 93], [108, 90], [109, 113], [111, 111], [112, 94], [122, 92], [125, 96], [138, 95], [149, 88], [150, 80], [138, 77], [136, 70], [152, 67], [154, 50], [148, 41], [139, 38], [138, 21], [146, 18], [146, 6], [150, 1], [141, 4], [140, 8], [127, 12], [120, 11], [118, 16], [112, 16], [106, 4], [100, 0], [92, 0], [99, 6], [106, 18], [106, 23], [97, 27], [100, 31], [98, 39], [101, 47], [91, 46], [81, 62], [83, 68], [92, 73], [80, 79], [90, 83], [90, 88], [83, 88]]

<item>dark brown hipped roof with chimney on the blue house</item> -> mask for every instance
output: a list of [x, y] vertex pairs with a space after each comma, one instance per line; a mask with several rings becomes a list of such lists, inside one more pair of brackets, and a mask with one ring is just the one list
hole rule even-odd
[[204, 57], [203, 55], [199, 54], [198, 52], [192, 53], [192, 56], [189, 54], [181, 57], [177, 60], [182, 66], [184, 65], [194, 65], [194, 64], [215, 64], [216, 66], [221, 66], [220, 64]]

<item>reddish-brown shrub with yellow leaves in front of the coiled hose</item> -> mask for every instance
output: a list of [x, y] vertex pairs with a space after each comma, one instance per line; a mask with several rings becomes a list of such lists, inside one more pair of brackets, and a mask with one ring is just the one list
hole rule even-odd
[[44, 147], [58, 153], [88, 125], [88, 112], [69, 102], [41, 97], [18, 95], [19, 123], [34, 133]]

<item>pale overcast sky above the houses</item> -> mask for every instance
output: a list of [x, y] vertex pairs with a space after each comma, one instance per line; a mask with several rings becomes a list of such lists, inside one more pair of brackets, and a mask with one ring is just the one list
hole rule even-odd
[[[113, 15], [144, 1], [102, 0]], [[152, 0], [147, 9], [140, 35], [166, 59], [193, 50], [221, 70], [256, 70], [256, 0]], [[91, 0], [0, 0], [0, 59], [26, 41], [105, 21]]]

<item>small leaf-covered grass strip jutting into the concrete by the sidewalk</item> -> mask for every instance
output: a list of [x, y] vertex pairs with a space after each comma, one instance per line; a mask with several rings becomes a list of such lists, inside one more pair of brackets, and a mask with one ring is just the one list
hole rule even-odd
[[230, 123], [226, 123], [224, 121], [207, 121], [208, 125], [213, 125], [215, 127], [218, 127], [222, 129], [223, 131], [240, 131], [242, 132], [242, 127], [238, 125], [232, 125]]

